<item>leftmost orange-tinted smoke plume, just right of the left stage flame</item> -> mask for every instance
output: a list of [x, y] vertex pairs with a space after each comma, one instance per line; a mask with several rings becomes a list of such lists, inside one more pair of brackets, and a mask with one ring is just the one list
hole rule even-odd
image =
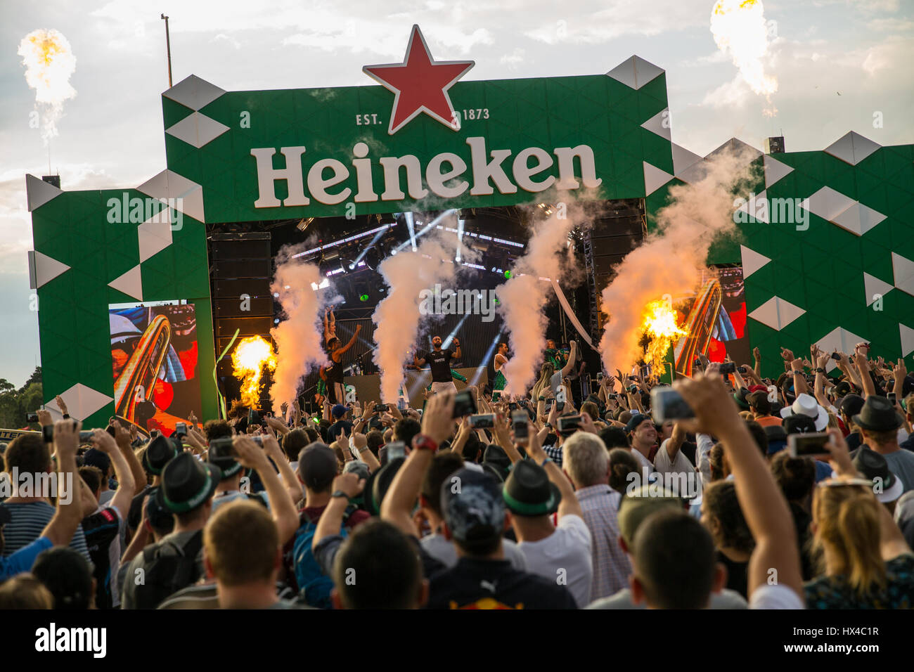
[[283, 401], [295, 399], [302, 377], [327, 359], [323, 347], [323, 298], [331, 297], [333, 291], [314, 291], [314, 286], [326, 277], [316, 264], [292, 258], [301, 248], [299, 245], [280, 251], [270, 285], [271, 293], [279, 294], [285, 317], [270, 331], [278, 353], [270, 399], [277, 409]]

